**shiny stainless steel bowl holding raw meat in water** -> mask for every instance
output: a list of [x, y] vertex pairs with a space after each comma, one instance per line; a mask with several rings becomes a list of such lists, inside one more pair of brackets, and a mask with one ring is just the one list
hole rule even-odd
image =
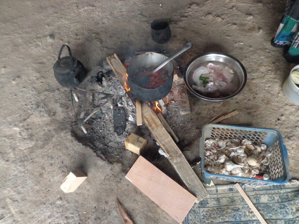
[[[192, 85], [194, 85], [194, 81], [192, 80], [192, 75], [194, 71], [200, 66], [206, 66], [210, 61], [223, 62], [227, 65], [227, 67], [235, 70], [235, 72], [239, 76], [240, 82], [239, 82], [239, 88], [237, 88], [237, 90], [233, 94], [223, 98], [209, 98], [206, 96], [202, 96], [199, 93], [199, 91], [192, 89]], [[208, 100], [208, 101], [224, 101], [232, 98], [233, 96], [236, 96], [245, 87], [246, 81], [247, 81], [247, 73], [242, 63], [238, 59], [234, 58], [233, 56], [230, 56], [228, 54], [218, 53], [218, 52], [210, 52], [194, 58], [191, 62], [189, 62], [189, 64], [186, 66], [184, 71], [184, 82], [188, 90], [198, 98]]]

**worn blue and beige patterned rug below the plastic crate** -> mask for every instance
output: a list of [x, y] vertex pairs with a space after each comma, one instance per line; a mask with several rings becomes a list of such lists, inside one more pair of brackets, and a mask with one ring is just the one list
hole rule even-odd
[[[299, 223], [299, 181], [243, 190], [267, 223]], [[258, 224], [249, 205], [234, 185], [207, 187], [208, 197], [194, 204], [185, 224]]]

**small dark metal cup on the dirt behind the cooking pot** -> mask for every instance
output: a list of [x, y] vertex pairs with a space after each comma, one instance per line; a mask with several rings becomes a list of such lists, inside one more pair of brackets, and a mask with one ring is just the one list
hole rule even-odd
[[165, 18], [155, 19], [151, 24], [152, 39], [158, 44], [164, 44], [171, 37], [169, 20]]

